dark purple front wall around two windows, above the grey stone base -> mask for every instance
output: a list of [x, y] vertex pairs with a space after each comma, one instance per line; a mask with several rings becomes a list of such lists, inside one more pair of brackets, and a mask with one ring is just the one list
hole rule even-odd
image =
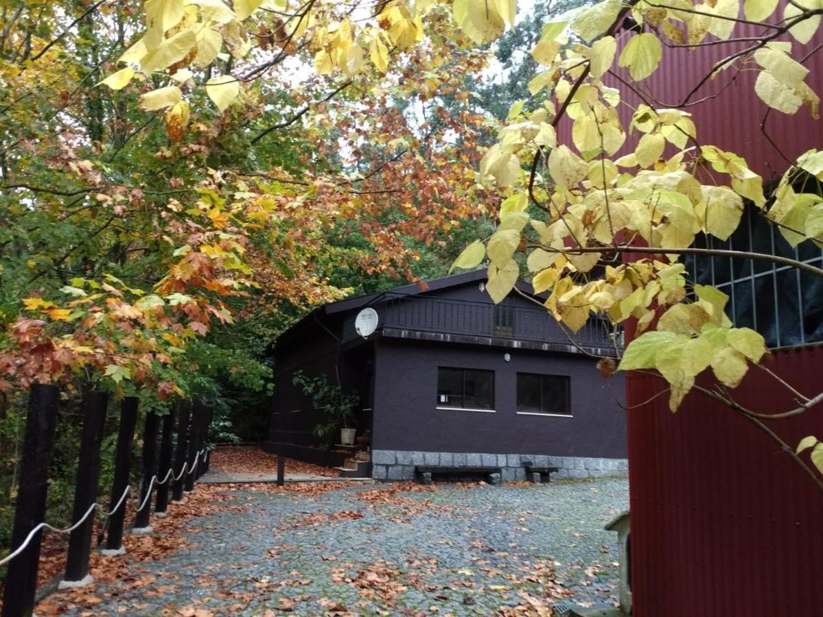
[[[374, 364], [374, 450], [626, 457], [624, 381], [586, 357], [381, 338]], [[436, 408], [438, 366], [495, 371], [496, 411]], [[569, 375], [573, 415], [518, 414], [518, 371]]]

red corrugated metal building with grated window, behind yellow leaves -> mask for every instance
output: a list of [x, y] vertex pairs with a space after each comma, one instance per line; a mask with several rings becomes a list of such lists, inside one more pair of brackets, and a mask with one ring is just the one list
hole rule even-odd
[[[738, 27], [735, 36], [757, 36], [760, 30]], [[803, 58], [821, 41], [817, 35], [805, 46], [793, 42], [794, 57]], [[641, 85], [662, 98], [660, 107], [675, 107], [714, 62], [742, 45], [693, 52], [667, 48], [660, 70]], [[820, 54], [805, 62], [811, 70], [807, 83], [818, 93], [823, 91], [821, 62]], [[756, 75], [755, 70], [737, 76], [725, 71], [702, 85], [690, 98], [696, 104], [686, 110], [693, 114], [701, 144], [742, 155], [768, 180], [788, 168], [783, 155], [795, 160], [823, 147], [823, 127], [805, 109], [796, 116], [772, 111], [767, 137], [761, 130], [767, 108], [755, 94]], [[623, 100], [640, 102], [621, 84], [613, 85]], [[628, 151], [630, 145], [619, 154]], [[811, 242], [791, 249], [773, 225], [751, 211], [729, 244], [823, 265], [820, 249]], [[821, 391], [820, 279], [727, 258], [692, 260], [690, 269], [700, 283], [714, 283], [732, 297], [729, 312], [736, 325], [765, 334], [774, 349], [772, 371], [802, 394]], [[704, 385], [709, 383], [704, 378]], [[690, 394], [676, 414], [669, 412], [667, 395], [654, 398], [666, 386], [652, 375], [626, 378], [634, 615], [823, 615], [821, 492], [773, 440], [728, 407]], [[757, 368], [734, 394], [744, 406], [765, 413], [796, 404], [778, 380]], [[823, 435], [821, 407], [771, 424], [794, 446], [805, 435]]]

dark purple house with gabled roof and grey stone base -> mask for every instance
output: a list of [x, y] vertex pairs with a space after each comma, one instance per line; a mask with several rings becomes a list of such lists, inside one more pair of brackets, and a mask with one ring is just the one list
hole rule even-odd
[[[625, 472], [624, 380], [603, 378], [580, 349], [613, 354], [607, 329], [590, 321], [575, 347], [528, 298], [513, 292], [495, 306], [485, 282], [485, 271], [456, 274], [425, 291], [408, 285], [311, 311], [272, 346], [267, 449], [327, 465], [346, 458], [312, 434], [323, 411], [292, 384], [302, 371], [339, 375], [360, 395], [356, 427], [371, 433], [375, 479], [411, 479], [422, 464], [525, 479], [527, 459], [560, 467], [556, 477]], [[364, 338], [356, 317], [365, 309], [377, 325]]]

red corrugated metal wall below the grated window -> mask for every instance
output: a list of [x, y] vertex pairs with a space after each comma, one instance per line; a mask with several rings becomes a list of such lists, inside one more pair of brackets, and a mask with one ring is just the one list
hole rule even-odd
[[[823, 348], [775, 352], [770, 368], [819, 392]], [[627, 380], [633, 614], [823, 615], [823, 495], [811, 479], [727, 407], [690, 394], [672, 414], [666, 395], [641, 404], [660, 378]], [[733, 394], [756, 412], [796, 404], [756, 369]], [[770, 427], [794, 447], [821, 434], [821, 407]]]

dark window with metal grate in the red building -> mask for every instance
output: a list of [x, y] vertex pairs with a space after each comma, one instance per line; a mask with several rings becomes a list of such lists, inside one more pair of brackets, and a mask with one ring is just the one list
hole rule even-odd
[[[792, 248], [776, 225], [747, 206], [727, 241], [700, 235], [695, 247], [750, 251], [823, 267], [823, 251], [812, 242]], [[823, 280], [791, 266], [721, 256], [686, 256], [695, 283], [727, 293], [726, 312], [735, 326], [756, 329], [770, 348], [823, 341]]]

